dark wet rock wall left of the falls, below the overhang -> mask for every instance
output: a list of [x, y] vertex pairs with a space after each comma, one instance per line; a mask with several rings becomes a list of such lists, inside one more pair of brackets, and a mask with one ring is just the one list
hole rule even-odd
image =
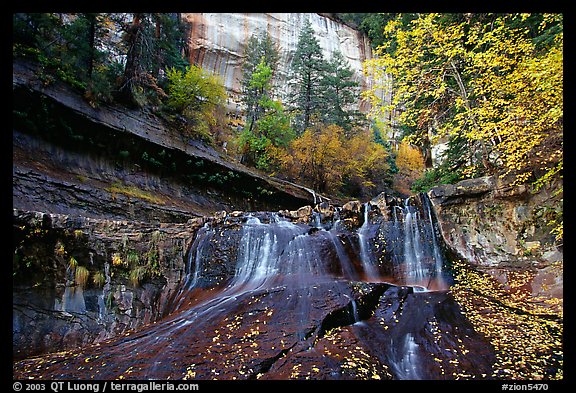
[[[166, 227], [14, 210], [14, 357], [77, 348], [161, 318], [203, 221]], [[116, 254], [138, 258], [154, 274], [132, 284], [132, 267], [115, 266]], [[83, 287], [71, 258], [89, 272]], [[93, 283], [96, 274], [101, 285]]]

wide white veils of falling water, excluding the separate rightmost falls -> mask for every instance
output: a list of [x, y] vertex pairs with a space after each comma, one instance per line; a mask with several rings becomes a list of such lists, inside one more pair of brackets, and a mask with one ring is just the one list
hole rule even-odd
[[[242, 224], [238, 242], [234, 275], [226, 292], [257, 290], [275, 285], [305, 285], [322, 279], [341, 275], [347, 279], [357, 278], [350, 258], [331, 225], [326, 230], [319, 217], [313, 217], [313, 226], [295, 224], [272, 214], [270, 222], [248, 216]], [[205, 225], [198, 233], [190, 253], [186, 288], [194, 288], [199, 282], [203, 261], [209, 256], [204, 252], [214, 230]], [[327, 260], [320, 250], [332, 248], [336, 255], [339, 272], [334, 272], [333, 261]], [[330, 254], [327, 252], [327, 254]]]

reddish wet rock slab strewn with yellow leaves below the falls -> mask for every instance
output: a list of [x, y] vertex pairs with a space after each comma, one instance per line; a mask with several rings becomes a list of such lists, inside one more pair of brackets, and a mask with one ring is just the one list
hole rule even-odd
[[493, 362], [446, 292], [332, 281], [220, 295], [202, 300], [196, 291], [189, 305], [125, 337], [17, 362], [14, 377], [452, 379], [486, 376]]

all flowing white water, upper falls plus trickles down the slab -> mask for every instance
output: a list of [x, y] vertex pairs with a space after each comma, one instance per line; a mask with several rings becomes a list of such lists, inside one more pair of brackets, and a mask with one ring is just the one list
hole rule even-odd
[[[355, 231], [360, 261], [355, 265], [354, 255], [345, 247], [339, 235], [343, 228], [340, 215], [334, 214], [331, 222], [322, 222], [319, 213], [314, 213], [309, 224], [296, 224], [272, 214], [269, 222], [248, 215], [242, 224], [238, 242], [235, 271], [232, 279], [217, 296], [197, 304], [180, 317], [180, 323], [187, 325], [202, 317], [202, 321], [213, 318], [218, 310], [235, 302], [247, 293], [274, 287], [307, 288], [322, 281], [346, 279], [368, 282], [382, 282], [389, 277], [381, 274], [372, 244], [376, 241], [380, 225], [371, 222], [370, 203], [363, 206], [362, 225]], [[435, 288], [444, 288], [442, 267], [444, 258], [435, 233], [430, 206], [425, 200], [422, 209], [411, 205], [406, 199], [402, 206], [392, 208], [392, 221], [388, 222], [388, 237], [392, 237], [391, 246], [386, 253], [391, 255], [397, 276], [395, 281], [409, 285], [414, 292], [426, 292]], [[203, 261], [209, 260], [210, 247], [207, 243], [215, 233], [214, 229], [204, 226], [193, 243], [188, 266], [186, 290], [199, 284]], [[333, 256], [333, 257], [329, 257]], [[335, 260], [335, 261], [334, 261]], [[291, 304], [293, 317], [302, 324], [308, 317], [310, 300], [306, 291]], [[304, 294], [304, 295], [302, 295]], [[352, 297], [349, 307], [355, 325], [365, 328], [359, 316], [358, 304]], [[176, 326], [180, 324], [176, 323]], [[174, 326], [174, 325], [173, 325]], [[166, 332], [169, 333], [168, 331]], [[304, 336], [302, 336], [304, 337]], [[401, 339], [391, 343], [390, 362], [399, 379], [420, 379], [418, 368], [418, 343], [412, 334], [407, 333]]]

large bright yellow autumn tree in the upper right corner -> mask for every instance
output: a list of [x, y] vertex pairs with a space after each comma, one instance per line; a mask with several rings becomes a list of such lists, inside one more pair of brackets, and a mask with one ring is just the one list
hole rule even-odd
[[408, 141], [424, 149], [459, 138], [463, 177], [562, 179], [561, 14], [399, 15], [384, 32], [366, 65], [376, 81], [391, 75], [393, 100], [383, 105], [376, 91], [390, 86], [375, 85], [374, 115], [399, 110]]

